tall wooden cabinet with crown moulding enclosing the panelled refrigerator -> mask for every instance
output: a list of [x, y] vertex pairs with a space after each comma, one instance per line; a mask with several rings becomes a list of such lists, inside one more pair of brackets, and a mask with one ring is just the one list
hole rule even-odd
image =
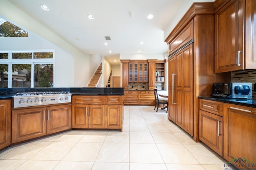
[[[214, 2], [192, 4], [165, 40], [169, 45], [170, 53], [168, 56], [168, 117], [181, 125], [183, 121], [185, 124], [182, 126], [186, 127], [185, 130], [190, 131], [194, 141], [199, 141], [198, 96], [210, 96], [212, 83], [231, 82], [230, 74], [214, 73], [214, 13]], [[178, 55], [182, 55], [180, 50], [187, 47], [188, 43], [191, 42], [193, 42], [192, 51], [186, 51], [186, 55], [190, 54], [192, 61], [189, 60], [188, 56], [184, 61], [178, 61]], [[180, 58], [182, 59], [182, 57]], [[184, 63], [184, 68], [180, 67], [182, 63]], [[173, 68], [178, 68], [177, 72], [174, 72]], [[174, 79], [172, 78], [173, 73]], [[172, 87], [172, 80], [177, 84], [174, 88]], [[180, 86], [182, 84], [183, 88]], [[183, 103], [186, 106], [174, 106], [172, 104], [182, 101], [186, 103]], [[180, 111], [184, 114], [175, 114], [180, 113]], [[192, 131], [190, 130], [191, 126]]]

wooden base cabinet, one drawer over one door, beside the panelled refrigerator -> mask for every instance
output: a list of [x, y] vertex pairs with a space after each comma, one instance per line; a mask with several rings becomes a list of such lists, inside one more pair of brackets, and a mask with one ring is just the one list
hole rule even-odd
[[223, 156], [223, 103], [199, 100], [199, 139]]

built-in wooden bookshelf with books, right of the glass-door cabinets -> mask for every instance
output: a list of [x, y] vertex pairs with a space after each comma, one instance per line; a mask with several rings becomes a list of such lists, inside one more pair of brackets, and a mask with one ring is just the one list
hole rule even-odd
[[158, 90], [164, 89], [164, 82], [165, 82], [165, 64], [164, 61], [156, 62], [156, 88]]

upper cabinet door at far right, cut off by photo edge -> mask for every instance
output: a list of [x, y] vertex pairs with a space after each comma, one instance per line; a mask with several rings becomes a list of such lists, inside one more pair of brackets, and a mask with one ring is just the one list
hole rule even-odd
[[245, 69], [256, 68], [256, 1], [246, 0]]

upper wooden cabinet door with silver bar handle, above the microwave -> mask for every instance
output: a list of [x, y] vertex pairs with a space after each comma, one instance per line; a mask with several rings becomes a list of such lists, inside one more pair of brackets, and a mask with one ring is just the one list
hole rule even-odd
[[215, 72], [243, 69], [244, 0], [231, 0], [215, 14]]

